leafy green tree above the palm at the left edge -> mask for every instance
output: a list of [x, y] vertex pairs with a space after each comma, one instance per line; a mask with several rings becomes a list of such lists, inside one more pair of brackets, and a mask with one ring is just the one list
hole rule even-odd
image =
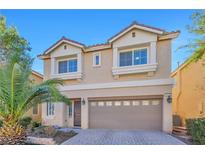
[[19, 35], [14, 26], [7, 26], [6, 18], [0, 16], [0, 64], [15, 60], [31, 66], [33, 58], [29, 55], [30, 50], [31, 47], [26, 39]]

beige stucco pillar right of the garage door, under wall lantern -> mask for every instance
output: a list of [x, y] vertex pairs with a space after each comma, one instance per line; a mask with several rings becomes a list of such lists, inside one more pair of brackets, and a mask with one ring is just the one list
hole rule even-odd
[[164, 94], [163, 97], [163, 109], [162, 109], [162, 129], [167, 133], [172, 132], [172, 103], [167, 102], [168, 96], [171, 96], [171, 93]]

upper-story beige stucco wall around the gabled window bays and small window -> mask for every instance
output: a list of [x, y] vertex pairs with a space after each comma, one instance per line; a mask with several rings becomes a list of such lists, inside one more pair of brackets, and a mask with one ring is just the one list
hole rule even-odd
[[[63, 49], [62, 49], [63, 50]], [[99, 51], [97, 51], [99, 52]], [[158, 68], [153, 76], [147, 73], [120, 75], [114, 79], [112, 75], [112, 49], [101, 50], [101, 66], [93, 67], [93, 53], [83, 53], [83, 78], [79, 80], [65, 80], [66, 84], [106, 83], [118, 81], [134, 81], [145, 79], [169, 78], [171, 72], [171, 41], [157, 42]], [[49, 79], [51, 73], [51, 60], [44, 60], [44, 79]]]

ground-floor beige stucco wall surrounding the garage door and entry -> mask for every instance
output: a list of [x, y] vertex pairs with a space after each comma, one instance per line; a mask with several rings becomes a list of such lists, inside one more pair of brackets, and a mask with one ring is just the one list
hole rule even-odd
[[[150, 86], [150, 87], [133, 87], [133, 88], [111, 88], [111, 89], [98, 89], [98, 90], [79, 90], [79, 91], [64, 91], [62, 92], [69, 98], [84, 98], [86, 101], [85, 105], [81, 107], [81, 125], [82, 128], [88, 128], [88, 97], [111, 97], [111, 96], [142, 96], [142, 95], [164, 95], [163, 100], [163, 130], [170, 132], [172, 129], [172, 118], [171, 118], [171, 104], [166, 101], [167, 93], [171, 93], [171, 86]], [[123, 94], [123, 95], [122, 95]], [[46, 125], [60, 125], [68, 126], [68, 116], [64, 113], [65, 104], [55, 104], [56, 112], [53, 118], [46, 118], [45, 113], [44, 124]], [[43, 111], [46, 111], [46, 106], [43, 105]], [[67, 111], [66, 111], [67, 112]], [[64, 119], [64, 121], [62, 121]], [[73, 116], [72, 119], [73, 121]], [[73, 126], [69, 123], [69, 126]]]

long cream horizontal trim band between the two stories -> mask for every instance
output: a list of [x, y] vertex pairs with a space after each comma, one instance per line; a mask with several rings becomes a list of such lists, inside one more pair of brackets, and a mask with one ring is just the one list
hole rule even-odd
[[61, 86], [60, 91], [161, 86], [161, 85], [173, 85], [173, 84], [174, 84], [174, 80], [167, 78], [167, 79], [152, 79], [152, 80], [138, 80], [138, 81], [108, 82], [108, 83], [97, 83], [97, 84], [67, 85], [63, 87]]

